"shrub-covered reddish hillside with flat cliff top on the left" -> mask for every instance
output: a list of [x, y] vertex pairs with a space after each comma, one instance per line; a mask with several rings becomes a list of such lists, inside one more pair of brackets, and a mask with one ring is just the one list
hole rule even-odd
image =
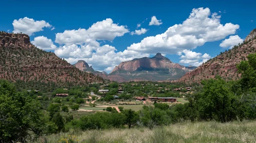
[[60, 86], [103, 82], [102, 78], [80, 71], [54, 53], [38, 49], [26, 34], [0, 32], [0, 53], [0, 79], [54, 82]]

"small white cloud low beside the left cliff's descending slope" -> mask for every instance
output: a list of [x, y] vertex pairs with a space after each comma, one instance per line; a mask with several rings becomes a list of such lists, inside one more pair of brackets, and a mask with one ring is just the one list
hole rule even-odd
[[52, 40], [48, 39], [45, 36], [35, 37], [34, 40], [31, 41], [31, 43], [42, 50], [55, 50], [56, 49], [56, 45], [53, 44]]

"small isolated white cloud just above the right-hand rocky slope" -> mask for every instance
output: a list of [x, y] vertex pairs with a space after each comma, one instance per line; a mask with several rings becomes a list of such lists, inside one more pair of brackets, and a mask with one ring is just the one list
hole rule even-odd
[[228, 39], [225, 39], [221, 42], [220, 46], [223, 48], [229, 48], [231, 49], [234, 45], [238, 45], [239, 43], [242, 43], [244, 40], [241, 39], [238, 35], [235, 36], [229, 36]]

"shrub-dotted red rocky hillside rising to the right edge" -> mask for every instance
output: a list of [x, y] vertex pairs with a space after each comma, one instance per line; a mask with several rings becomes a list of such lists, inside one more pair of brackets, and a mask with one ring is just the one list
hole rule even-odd
[[226, 80], [240, 78], [235, 67], [240, 61], [247, 60], [250, 53], [256, 52], [256, 29], [252, 30], [242, 44], [225, 51], [220, 55], [208, 60], [193, 71], [186, 73], [178, 82], [201, 82], [204, 79], [214, 78], [220, 75]]

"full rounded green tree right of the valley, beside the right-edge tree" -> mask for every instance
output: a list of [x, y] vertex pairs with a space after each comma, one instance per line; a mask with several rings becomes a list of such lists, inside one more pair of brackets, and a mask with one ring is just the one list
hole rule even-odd
[[202, 81], [203, 92], [199, 94], [199, 112], [203, 120], [229, 122], [236, 118], [236, 100], [229, 85], [221, 77]]

